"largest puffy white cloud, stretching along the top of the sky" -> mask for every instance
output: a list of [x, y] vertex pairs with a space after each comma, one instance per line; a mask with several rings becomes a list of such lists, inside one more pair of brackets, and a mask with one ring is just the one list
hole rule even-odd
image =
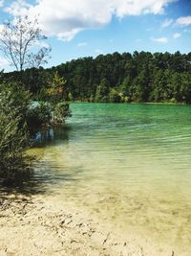
[[107, 25], [113, 15], [164, 12], [167, 4], [176, 0], [38, 0], [30, 5], [27, 0], [14, 1], [6, 9], [12, 15], [36, 16], [39, 14], [41, 29], [46, 35], [70, 40], [85, 29]]

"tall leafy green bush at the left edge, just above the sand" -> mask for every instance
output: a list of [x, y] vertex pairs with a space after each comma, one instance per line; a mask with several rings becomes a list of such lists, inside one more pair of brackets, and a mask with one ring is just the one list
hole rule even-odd
[[[17, 98], [17, 97], [20, 98]], [[29, 93], [16, 90], [16, 85], [0, 85], [0, 175], [13, 179], [28, 170], [25, 151], [29, 133], [25, 123]]]

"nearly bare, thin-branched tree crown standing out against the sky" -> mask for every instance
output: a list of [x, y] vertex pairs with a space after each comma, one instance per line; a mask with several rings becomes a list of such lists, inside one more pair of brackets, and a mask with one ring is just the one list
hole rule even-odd
[[16, 70], [39, 67], [47, 63], [51, 48], [43, 45], [37, 18], [18, 17], [5, 22], [0, 32], [0, 51]]

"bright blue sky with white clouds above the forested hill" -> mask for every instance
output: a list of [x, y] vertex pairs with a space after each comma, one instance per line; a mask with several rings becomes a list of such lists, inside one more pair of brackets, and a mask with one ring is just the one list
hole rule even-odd
[[[191, 0], [0, 0], [0, 28], [26, 14], [38, 16], [52, 47], [47, 67], [114, 52], [191, 52]], [[1, 53], [0, 69], [12, 70]]]

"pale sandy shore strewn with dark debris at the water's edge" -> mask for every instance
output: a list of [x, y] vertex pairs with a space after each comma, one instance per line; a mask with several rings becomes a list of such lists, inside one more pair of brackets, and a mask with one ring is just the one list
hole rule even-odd
[[186, 255], [145, 238], [119, 234], [74, 205], [63, 207], [43, 197], [2, 196], [0, 228], [1, 256]]

